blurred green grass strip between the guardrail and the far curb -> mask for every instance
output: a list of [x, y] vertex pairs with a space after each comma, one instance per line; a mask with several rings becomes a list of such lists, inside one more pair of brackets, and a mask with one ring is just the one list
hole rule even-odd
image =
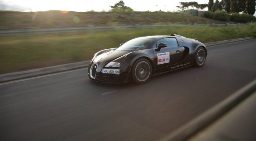
[[0, 74], [89, 60], [97, 51], [141, 36], [179, 34], [212, 42], [256, 37], [256, 26], [137, 28], [0, 38]]

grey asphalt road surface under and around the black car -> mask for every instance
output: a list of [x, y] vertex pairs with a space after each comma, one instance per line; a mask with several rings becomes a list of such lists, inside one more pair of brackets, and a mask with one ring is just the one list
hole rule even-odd
[[0, 141], [155, 141], [256, 79], [256, 40], [208, 48], [203, 67], [147, 84], [100, 84], [87, 69], [0, 84]]

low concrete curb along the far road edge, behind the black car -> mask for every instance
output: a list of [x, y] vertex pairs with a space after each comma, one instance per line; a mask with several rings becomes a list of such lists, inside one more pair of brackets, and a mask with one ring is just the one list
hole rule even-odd
[[[226, 44], [230, 42], [244, 41], [244, 40], [250, 40], [250, 39], [253, 39], [253, 37], [238, 38], [238, 39], [231, 39], [231, 40], [224, 40], [224, 41], [217, 41], [217, 42], [208, 42], [208, 43], [205, 43], [205, 45], [206, 47], [210, 47], [213, 45], [220, 45], [220, 44]], [[1, 74], [0, 83], [29, 78], [29, 77], [36, 77], [40, 75], [59, 73], [62, 71], [75, 70], [78, 68], [85, 68], [85, 67], [88, 67], [89, 63], [90, 61], [83, 61], [83, 62], [62, 64], [62, 65], [51, 66], [51, 67], [37, 68], [37, 69], [27, 70], [27, 71]]]

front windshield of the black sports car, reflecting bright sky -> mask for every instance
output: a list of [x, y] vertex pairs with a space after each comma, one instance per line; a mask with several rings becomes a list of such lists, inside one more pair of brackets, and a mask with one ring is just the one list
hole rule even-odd
[[152, 42], [154, 38], [135, 38], [130, 41], [125, 42], [117, 50], [141, 50], [146, 49]]

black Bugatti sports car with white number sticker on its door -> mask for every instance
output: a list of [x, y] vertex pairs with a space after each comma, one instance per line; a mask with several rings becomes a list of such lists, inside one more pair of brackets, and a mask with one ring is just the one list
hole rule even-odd
[[206, 46], [196, 39], [171, 34], [132, 39], [118, 48], [97, 52], [88, 67], [89, 78], [107, 83], [130, 80], [142, 84], [152, 75], [195, 65], [202, 67]]

